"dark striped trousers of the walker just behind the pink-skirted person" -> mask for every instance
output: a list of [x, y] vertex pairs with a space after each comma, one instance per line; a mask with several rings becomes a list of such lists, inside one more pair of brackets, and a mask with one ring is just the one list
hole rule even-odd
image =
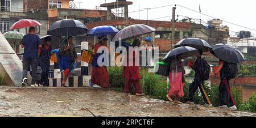
[[197, 88], [200, 89], [201, 95], [203, 96], [204, 102], [206, 104], [211, 104], [209, 96], [207, 95], [207, 92], [205, 91], [204, 87], [204, 81], [199, 77], [195, 76], [194, 81], [189, 85], [189, 101], [194, 101], [194, 95], [197, 91]]

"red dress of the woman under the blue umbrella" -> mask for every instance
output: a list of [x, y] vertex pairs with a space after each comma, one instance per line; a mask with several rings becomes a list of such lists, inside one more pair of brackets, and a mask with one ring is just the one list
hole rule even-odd
[[[101, 47], [100, 43], [97, 43], [94, 48], [94, 52], [97, 53], [98, 48]], [[109, 74], [105, 66], [102, 67], [92, 67], [92, 85], [97, 84], [103, 88], [109, 87]]]

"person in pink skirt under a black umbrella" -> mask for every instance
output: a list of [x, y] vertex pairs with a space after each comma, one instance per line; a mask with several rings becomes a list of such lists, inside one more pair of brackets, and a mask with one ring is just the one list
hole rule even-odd
[[[170, 74], [169, 74], [170, 91], [168, 95], [166, 95], [166, 97], [168, 100], [176, 104], [182, 104], [179, 101], [179, 99], [181, 97], [184, 97], [183, 74], [185, 74], [185, 70], [184, 70], [183, 63], [181, 62], [181, 59], [179, 57], [171, 59]], [[174, 100], [172, 100], [171, 98], [172, 96], [174, 97]]]

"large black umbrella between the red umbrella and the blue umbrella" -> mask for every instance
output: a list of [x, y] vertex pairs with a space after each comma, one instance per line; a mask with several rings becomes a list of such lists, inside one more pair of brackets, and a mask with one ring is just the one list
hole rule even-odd
[[47, 35], [52, 36], [77, 36], [85, 34], [88, 28], [79, 20], [64, 19], [51, 25]]

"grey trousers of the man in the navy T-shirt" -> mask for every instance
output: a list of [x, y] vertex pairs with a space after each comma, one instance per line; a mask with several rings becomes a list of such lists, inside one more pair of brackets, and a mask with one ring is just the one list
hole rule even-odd
[[32, 69], [32, 81], [31, 84], [35, 84], [37, 80], [37, 73], [38, 73], [38, 58], [23, 58], [22, 60], [22, 79], [27, 78], [27, 72], [30, 71], [30, 66]]

